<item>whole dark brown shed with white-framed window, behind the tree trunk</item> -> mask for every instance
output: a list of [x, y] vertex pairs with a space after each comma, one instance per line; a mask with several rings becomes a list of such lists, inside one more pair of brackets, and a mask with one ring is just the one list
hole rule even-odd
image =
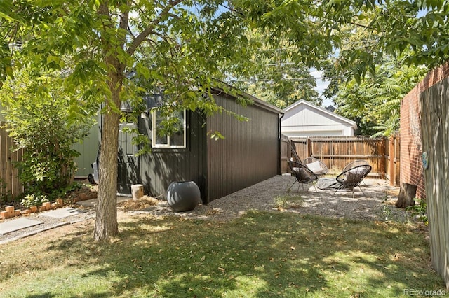
[[[149, 113], [137, 123], [122, 123], [119, 131], [119, 174], [117, 190], [130, 194], [130, 185], [144, 185], [144, 192], [163, 197], [173, 181], [192, 180], [200, 188], [203, 204], [224, 197], [280, 173], [280, 118], [282, 110], [243, 94], [253, 104], [243, 106], [236, 97], [213, 89], [218, 106], [249, 118], [236, 119], [229, 113], [204, 115], [201, 111], [184, 111], [180, 132], [159, 136], [159, 115], [151, 108], [163, 100], [162, 94], [145, 98]], [[135, 127], [149, 136], [152, 152], [136, 156], [138, 146], [124, 127]], [[213, 139], [220, 132], [225, 139]]]

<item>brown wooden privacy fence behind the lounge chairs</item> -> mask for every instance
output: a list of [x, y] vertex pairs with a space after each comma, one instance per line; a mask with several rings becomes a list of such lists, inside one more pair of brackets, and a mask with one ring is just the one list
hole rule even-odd
[[[282, 142], [282, 141], [281, 141]], [[340, 173], [344, 166], [357, 159], [363, 159], [372, 166], [371, 177], [387, 178], [391, 185], [399, 185], [399, 137], [390, 139], [370, 139], [354, 136], [319, 136], [310, 138], [290, 138], [286, 142], [287, 159], [315, 157], [324, 162], [331, 173]], [[290, 150], [289, 150], [290, 149]], [[297, 157], [295, 157], [295, 153]], [[281, 160], [282, 173], [287, 172], [287, 164]]]

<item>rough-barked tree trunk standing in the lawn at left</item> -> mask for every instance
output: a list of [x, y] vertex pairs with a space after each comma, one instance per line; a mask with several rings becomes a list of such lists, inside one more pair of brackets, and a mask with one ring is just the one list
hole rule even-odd
[[[103, 45], [105, 66], [107, 70], [107, 85], [110, 97], [105, 98], [105, 115], [102, 122], [100, 167], [98, 181], [98, 204], [95, 217], [93, 238], [106, 240], [119, 234], [117, 222], [117, 157], [119, 152], [119, 124], [120, 124], [120, 92], [123, 87], [123, 78], [126, 62], [123, 62], [123, 52], [126, 36], [118, 34], [111, 36], [107, 31], [116, 30], [109, 12], [107, 1], [100, 1], [98, 13], [102, 15], [103, 29], [100, 33]], [[119, 19], [119, 27], [128, 29], [129, 10], [123, 12]], [[118, 50], [120, 49], [120, 50]], [[130, 53], [132, 55], [132, 53]]]

